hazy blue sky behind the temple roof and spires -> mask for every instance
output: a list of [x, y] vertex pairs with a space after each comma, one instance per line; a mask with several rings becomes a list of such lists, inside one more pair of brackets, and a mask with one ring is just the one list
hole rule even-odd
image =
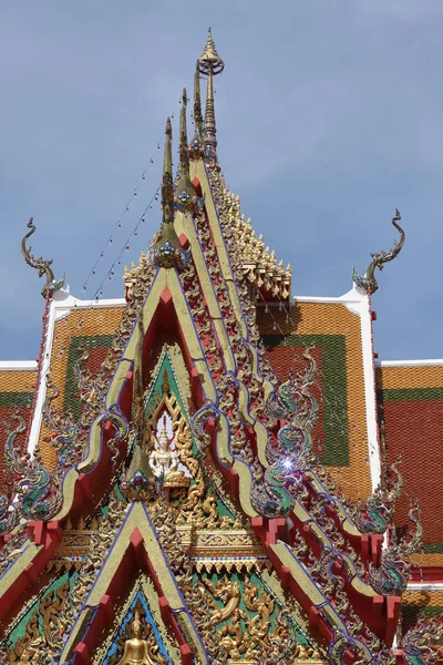
[[[352, 266], [391, 247], [399, 207], [406, 244], [378, 275], [375, 350], [442, 357], [441, 0], [17, 0], [0, 8], [2, 359], [40, 346], [42, 283], [20, 254], [29, 217], [34, 254], [93, 297], [158, 185], [156, 146], [173, 112], [176, 130], [208, 25], [226, 64], [219, 161], [257, 233], [291, 263], [293, 294], [348, 291]], [[124, 263], [159, 219], [155, 202]], [[103, 297], [122, 295], [122, 268]]]

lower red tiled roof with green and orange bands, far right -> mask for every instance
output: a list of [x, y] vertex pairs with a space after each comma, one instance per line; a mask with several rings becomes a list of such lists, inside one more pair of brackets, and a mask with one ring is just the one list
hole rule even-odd
[[421, 565], [443, 565], [443, 365], [378, 369], [379, 402], [383, 407], [388, 463], [402, 457], [403, 492], [395, 512], [398, 526], [408, 524], [410, 497], [422, 509], [423, 554]]

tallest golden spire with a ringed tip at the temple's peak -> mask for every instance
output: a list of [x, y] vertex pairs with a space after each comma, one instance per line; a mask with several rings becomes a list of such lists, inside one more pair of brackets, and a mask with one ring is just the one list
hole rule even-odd
[[198, 71], [207, 76], [205, 129], [203, 134], [204, 150], [206, 157], [215, 162], [217, 161], [217, 127], [215, 123], [213, 78], [220, 74], [224, 68], [225, 63], [217, 53], [209, 28], [205, 50], [198, 59]]

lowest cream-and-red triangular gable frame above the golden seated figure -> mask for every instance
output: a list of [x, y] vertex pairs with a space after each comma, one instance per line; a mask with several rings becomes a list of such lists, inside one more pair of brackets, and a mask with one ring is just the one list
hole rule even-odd
[[[147, 575], [144, 583], [137, 582], [141, 571]], [[142, 584], [146, 594], [148, 616], [145, 615], [145, 618], [150, 618], [150, 623], [152, 621], [152, 630], [175, 635], [175, 646], [169, 646], [169, 657], [177, 658], [178, 654], [178, 662], [187, 665], [193, 662], [190, 654], [195, 653], [202, 662], [206, 662], [202, 642], [158, 543], [154, 524], [140, 502], [130, 505], [66, 640], [61, 662], [100, 662], [94, 654], [102, 646], [103, 631], [110, 625], [111, 616], [125, 611], [125, 607], [120, 607], [120, 600], [132, 597], [134, 584]], [[92, 613], [91, 607], [94, 608]], [[130, 618], [127, 608], [125, 616]], [[189, 645], [183, 640], [183, 634], [186, 634]], [[115, 642], [116, 637], [117, 643], [121, 642], [119, 630], [114, 630], [111, 642]]]

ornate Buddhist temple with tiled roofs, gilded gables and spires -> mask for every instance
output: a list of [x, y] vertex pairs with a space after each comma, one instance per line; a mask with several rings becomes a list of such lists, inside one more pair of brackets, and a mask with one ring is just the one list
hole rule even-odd
[[224, 66], [209, 31], [124, 297], [71, 294], [29, 222], [43, 332], [0, 364], [1, 665], [439, 658], [443, 361], [372, 337], [404, 223], [349, 293], [293, 295], [222, 175]]

